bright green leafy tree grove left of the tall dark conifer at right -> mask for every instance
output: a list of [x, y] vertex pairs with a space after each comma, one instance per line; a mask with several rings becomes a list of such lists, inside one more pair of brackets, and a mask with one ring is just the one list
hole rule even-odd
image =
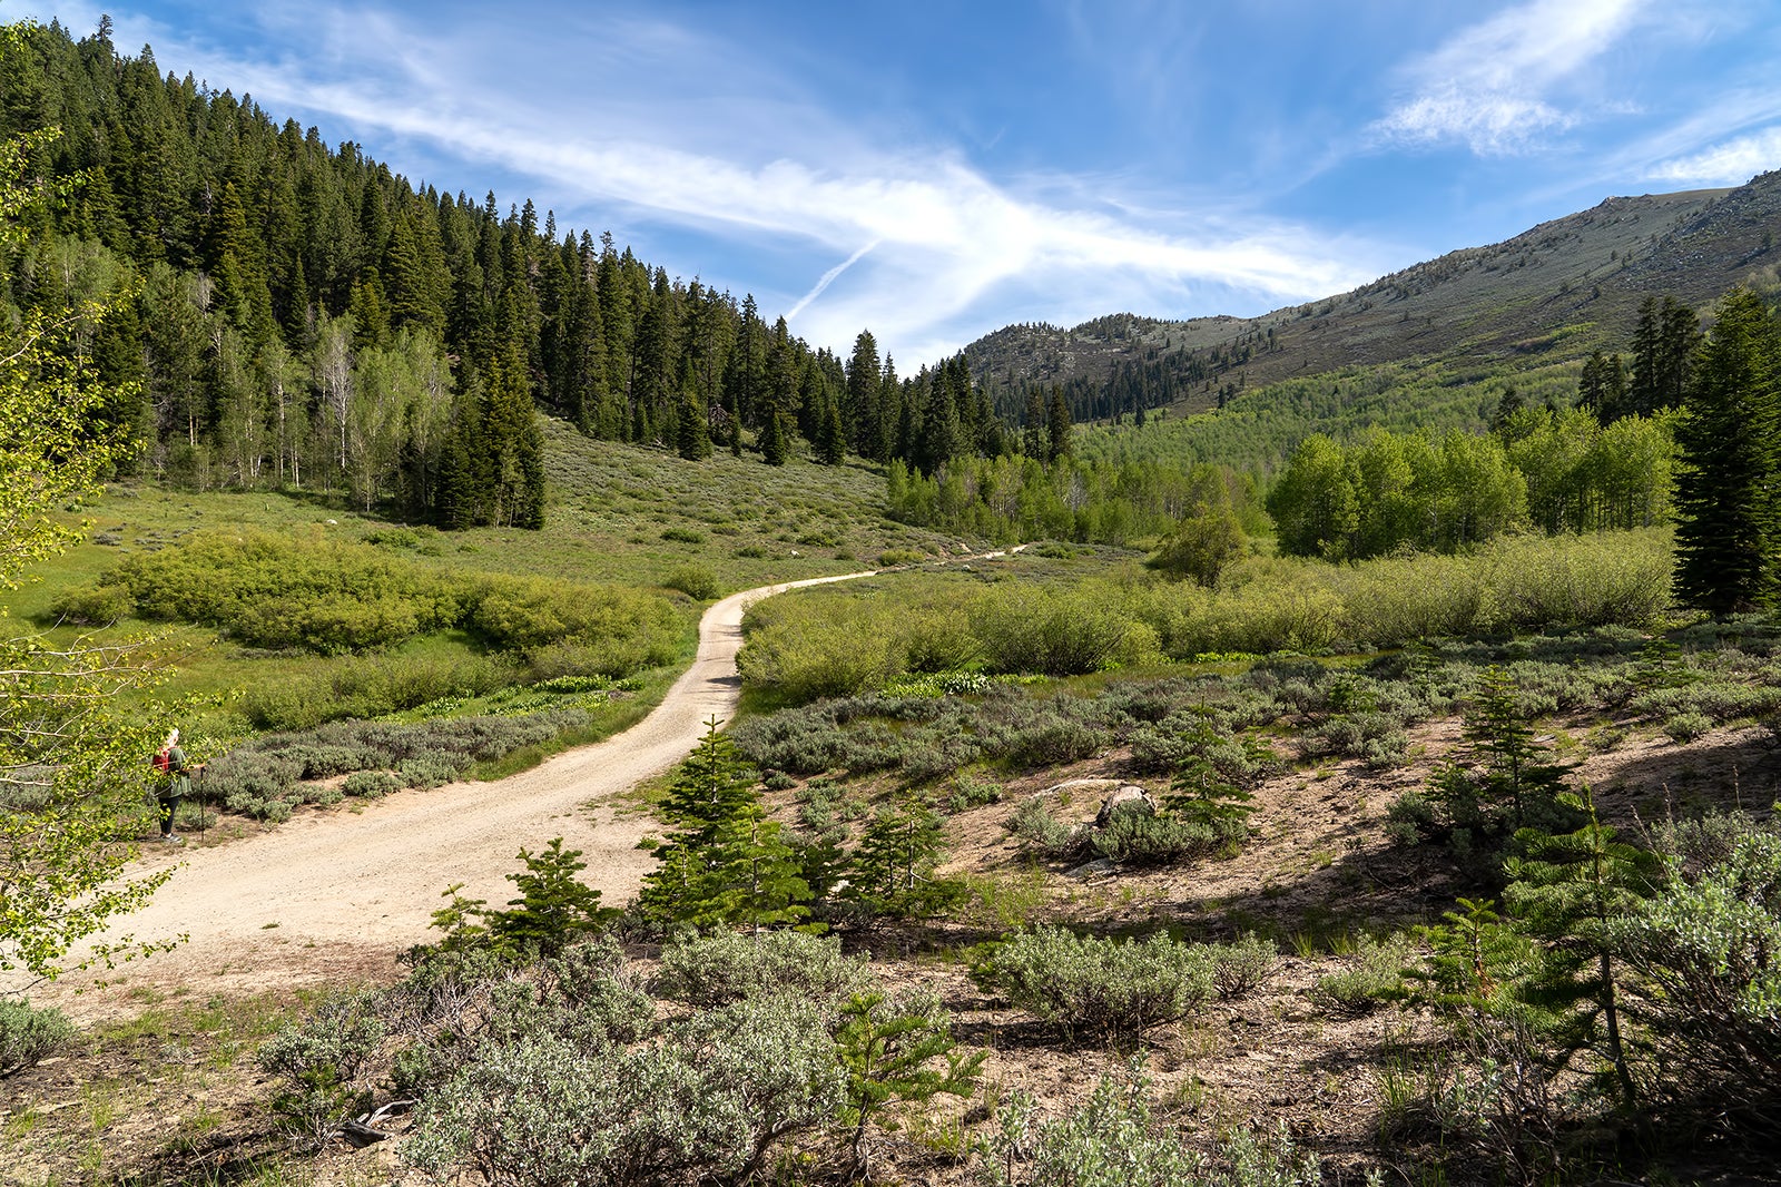
[[1669, 419], [1603, 428], [1583, 410], [1517, 410], [1491, 435], [1380, 430], [1341, 446], [1318, 433], [1268, 513], [1284, 553], [1327, 560], [1453, 553], [1523, 528], [1644, 528], [1669, 513], [1672, 458]]

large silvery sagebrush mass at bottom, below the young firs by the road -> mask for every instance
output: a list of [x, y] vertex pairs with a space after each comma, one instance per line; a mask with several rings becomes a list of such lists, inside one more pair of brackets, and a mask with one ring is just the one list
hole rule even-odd
[[677, 941], [659, 980], [689, 1009], [666, 1018], [611, 937], [540, 952], [422, 948], [401, 984], [329, 998], [260, 1050], [274, 1112], [315, 1146], [379, 1093], [415, 1100], [401, 1155], [440, 1180], [753, 1182], [803, 1151], [862, 1176], [883, 1116], [974, 1093], [946, 1012], [832, 941]]

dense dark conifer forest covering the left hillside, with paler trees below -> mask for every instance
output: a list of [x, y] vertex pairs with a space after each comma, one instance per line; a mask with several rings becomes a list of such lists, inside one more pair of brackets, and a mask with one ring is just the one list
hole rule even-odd
[[[670, 280], [609, 235], [415, 185], [276, 123], [249, 96], [162, 77], [110, 21], [21, 27], [0, 137], [66, 191], [0, 257], [0, 301], [80, 324], [109, 415], [175, 481], [337, 492], [449, 526], [536, 524], [534, 408], [582, 431], [782, 463], [803, 437], [933, 472], [1012, 440], [964, 360], [898, 380], [846, 364], [753, 298]], [[103, 317], [94, 310], [107, 308]]]

